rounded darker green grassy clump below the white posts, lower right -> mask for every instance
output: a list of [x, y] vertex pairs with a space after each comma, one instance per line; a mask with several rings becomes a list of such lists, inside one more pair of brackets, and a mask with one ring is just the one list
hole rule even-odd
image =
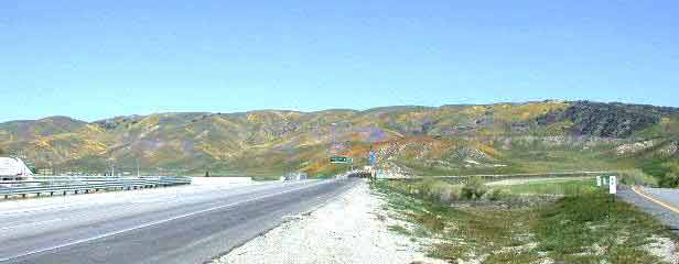
[[650, 216], [603, 193], [564, 197], [538, 210], [538, 249], [568, 263], [658, 263], [639, 246], [654, 234], [677, 240]]

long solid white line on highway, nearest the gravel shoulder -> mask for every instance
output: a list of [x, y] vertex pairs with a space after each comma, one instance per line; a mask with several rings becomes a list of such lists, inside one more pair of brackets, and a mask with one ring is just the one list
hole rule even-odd
[[89, 242], [89, 241], [94, 241], [94, 240], [98, 240], [98, 239], [103, 239], [103, 238], [106, 238], [106, 237], [111, 237], [111, 235], [116, 235], [116, 234], [120, 234], [120, 233], [125, 233], [125, 232], [129, 232], [129, 231], [133, 231], [133, 230], [138, 230], [138, 229], [149, 228], [149, 227], [158, 226], [158, 224], [161, 224], [161, 223], [174, 221], [174, 220], [182, 219], [182, 218], [187, 218], [187, 217], [196, 216], [196, 215], [208, 212], [208, 211], [219, 210], [219, 209], [224, 209], [224, 208], [228, 208], [228, 207], [238, 206], [240, 204], [246, 204], [246, 202], [250, 202], [250, 201], [255, 201], [255, 200], [261, 200], [261, 199], [273, 197], [273, 196], [284, 195], [284, 194], [288, 194], [288, 193], [292, 193], [292, 191], [297, 191], [297, 190], [301, 190], [301, 189], [306, 189], [306, 188], [310, 188], [310, 187], [313, 187], [313, 186], [316, 186], [316, 185], [321, 185], [321, 184], [324, 184], [324, 183], [328, 183], [328, 182], [319, 182], [319, 183], [314, 183], [313, 185], [304, 185], [304, 186], [302, 186], [300, 188], [294, 188], [294, 189], [289, 189], [289, 190], [284, 190], [284, 191], [280, 191], [280, 193], [263, 195], [263, 196], [250, 198], [250, 199], [247, 199], [247, 200], [236, 201], [236, 202], [231, 202], [231, 204], [224, 205], [224, 206], [212, 207], [212, 208], [208, 208], [208, 209], [203, 209], [203, 210], [198, 210], [198, 211], [194, 211], [194, 212], [190, 212], [190, 213], [185, 213], [185, 215], [181, 215], [181, 216], [176, 216], [176, 217], [172, 217], [172, 218], [168, 218], [168, 219], [163, 219], [163, 220], [159, 220], [159, 221], [154, 221], [154, 222], [149, 222], [149, 223], [140, 224], [140, 226], [128, 228], [128, 229], [122, 229], [122, 230], [118, 230], [118, 231], [114, 231], [114, 232], [108, 232], [108, 233], [99, 234], [99, 235], [87, 238], [87, 239], [80, 239], [80, 240], [76, 240], [76, 241], [68, 242], [68, 243], [61, 244], [61, 245], [55, 245], [55, 246], [51, 246], [51, 248], [46, 248], [46, 249], [42, 249], [42, 250], [30, 251], [30, 252], [22, 253], [22, 254], [19, 254], [19, 255], [6, 257], [6, 258], [0, 258], [0, 262], [11, 261], [11, 260], [14, 260], [14, 258], [19, 258], [19, 257], [23, 257], [23, 256], [28, 256], [28, 255], [33, 255], [33, 254], [37, 254], [37, 253], [42, 253], [42, 252], [46, 252], [46, 251], [58, 250], [58, 249], [62, 249], [62, 248], [66, 248], [66, 246], [71, 246], [71, 245], [76, 245], [76, 244], [80, 244], [80, 243], [85, 243], [85, 242]]

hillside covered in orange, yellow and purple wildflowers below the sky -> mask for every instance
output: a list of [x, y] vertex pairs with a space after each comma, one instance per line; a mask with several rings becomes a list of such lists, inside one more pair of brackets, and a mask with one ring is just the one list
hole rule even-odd
[[100, 174], [276, 176], [346, 169], [376, 151], [378, 166], [417, 175], [644, 168], [677, 163], [679, 109], [589, 101], [385, 107], [365, 111], [157, 113], [84, 122], [0, 123], [0, 148], [36, 168]]

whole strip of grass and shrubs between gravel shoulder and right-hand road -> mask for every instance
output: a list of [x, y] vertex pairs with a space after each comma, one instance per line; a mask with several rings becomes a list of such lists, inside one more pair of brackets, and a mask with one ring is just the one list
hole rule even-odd
[[679, 241], [593, 179], [371, 186], [408, 223], [391, 230], [429, 241], [431, 256], [452, 263], [662, 263], [671, 252], [659, 249]]

